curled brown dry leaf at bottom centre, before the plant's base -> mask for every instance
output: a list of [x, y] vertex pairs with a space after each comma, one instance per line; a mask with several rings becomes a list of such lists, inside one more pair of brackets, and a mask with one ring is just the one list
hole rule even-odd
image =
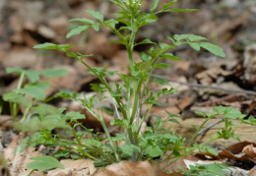
[[149, 161], [128, 162], [122, 161], [106, 166], [96, 172], [95, 176], [171, 176], [160, 170], [160, 166]]

